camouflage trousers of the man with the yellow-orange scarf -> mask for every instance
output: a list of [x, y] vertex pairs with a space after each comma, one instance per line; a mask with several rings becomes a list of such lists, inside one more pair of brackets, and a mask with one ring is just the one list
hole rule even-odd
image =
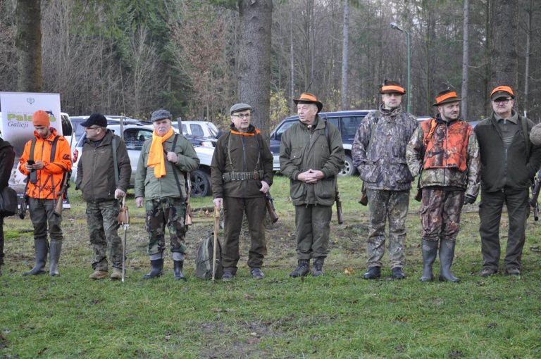
[[171, 253], [186, 253], [184, 223], [186, 203], [183, 199], [151, 199], [147, 201], [146, 227], [149, 232], [149, 256], [166, 249], [166, 225], [169, 229]]

